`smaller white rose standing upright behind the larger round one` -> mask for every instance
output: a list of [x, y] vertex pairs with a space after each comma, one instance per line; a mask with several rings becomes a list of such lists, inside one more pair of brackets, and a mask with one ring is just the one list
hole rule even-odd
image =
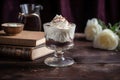
[[102, 31], [102, 26], [99, 25], [96, 18], [87, 21], [85, 28], [85, 37], [87, 40], [94, 40], [95, 36]]

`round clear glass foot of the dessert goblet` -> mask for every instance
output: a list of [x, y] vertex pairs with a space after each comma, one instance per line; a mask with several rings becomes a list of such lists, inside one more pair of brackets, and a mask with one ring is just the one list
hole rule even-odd
[[45, 59], [44, 63], [51, 67], [65, 67], [74, 64], [74, 60], [72, 58], [57, 58], [57, 57], [48, 57]]

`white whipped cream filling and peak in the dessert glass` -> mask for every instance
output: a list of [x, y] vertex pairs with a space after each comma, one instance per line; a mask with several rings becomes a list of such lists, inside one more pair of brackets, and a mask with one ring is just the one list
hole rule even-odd
[[61, 15], [56, 15], [51, 22], [45, 23], [43, 26], [47, 40], [71, 42], [74, 38], [76, 25], [69, 23]]

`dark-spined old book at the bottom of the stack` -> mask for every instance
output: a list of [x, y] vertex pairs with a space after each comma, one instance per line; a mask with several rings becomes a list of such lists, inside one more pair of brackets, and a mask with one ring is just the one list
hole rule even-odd
[[35, 60], [53, 52], [54, 50], [48, 49], [44, 45], [36, 47], [0, 45], [0, 57], [4, 59]]

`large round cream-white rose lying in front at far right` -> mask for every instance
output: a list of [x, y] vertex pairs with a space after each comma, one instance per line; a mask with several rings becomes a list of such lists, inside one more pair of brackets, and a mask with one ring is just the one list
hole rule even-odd
[[119, 37], [110, 29], [104, 29], [95, 37], [93, 46], [100, 49], [114, 50], [117, 48], [118, 43]]

